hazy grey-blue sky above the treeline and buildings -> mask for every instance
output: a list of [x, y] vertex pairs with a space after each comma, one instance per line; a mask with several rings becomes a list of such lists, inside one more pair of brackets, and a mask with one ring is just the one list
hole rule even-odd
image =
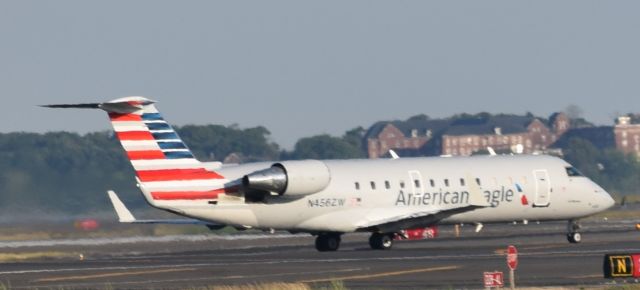
[[110, 128], [128, 95], [286, 148], [424, 113], [640, 112], [639, 1], [1, 1], [1, 132]]

